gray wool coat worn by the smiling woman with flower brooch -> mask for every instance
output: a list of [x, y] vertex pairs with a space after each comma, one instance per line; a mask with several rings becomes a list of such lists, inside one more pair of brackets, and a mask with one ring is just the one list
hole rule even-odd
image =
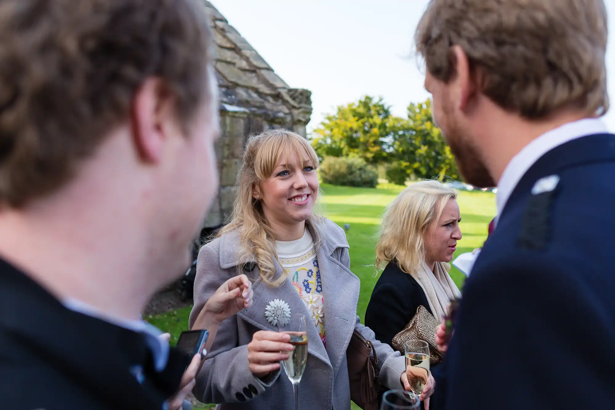
[[[357, 317], [360, 280], [349, 269], [349, 245], [343, 229], [326, 220], [321, 232], [323, 239], [316, 255], [325, 294], [327, 349], [309, 321], [309, 354], [300, 384], [300, 402], [304, 410], [350, 410], [346, 349], [355, 329], [375, 344], [381, 366], [380, 380], [386, 387], [403, 388], [400, 379], [405, 371], [405, 358], [389, 345], [376, 341], [373, 331]], [[190, 326], [207, 299], [222, 283], [237, 275], [238, 269], [256, 282], [252, 306], [221, 324], [193, 393], [204, 403], [219, 403], [216, 409], [294, 410], [293, 387], [284, 371], [277, 371], [268, 383], [254, 377], [248, 368], [247, 344], [256, 331], [277, 331], [264, 315], [270, 301], [282, 299], [293, 313], [303, 312], [309, 317], [308, 310], [290, 279], [277, 288], [272, 287], [257, 280], [258, 267], [250, 272], [245, 265], [240, 266], [238, 248], [239, 233], [228, 232], [199, 252]], [[282, 267], [276, 262], [276, 277], [280, 274]]]

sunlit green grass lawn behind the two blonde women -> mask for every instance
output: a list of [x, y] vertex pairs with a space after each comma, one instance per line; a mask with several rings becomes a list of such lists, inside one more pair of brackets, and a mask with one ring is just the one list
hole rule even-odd
[[[377, 188], [355, 188], [322, 184], [321, 187], [324, 192], [322, 203], [325, 216], [340, 226], [350, 224], [346, 235], [350, 244], [351, 270], [361, 280], [357, 314], [363, 320], [371, 291], [378, 280], [373, 267], [378, 227], [384, 208], [402, 191], [403, 186], [380, 184]], [[489, 192], [461, 192], [458, 202], [461, 210], [459, 226], [463, 237], [455, 255], [482, 246], [488, 224], [496, 211], [494, 194]], [[451, 277], [461, 288], [464, 278], [461, 272], [453, 267]], [[171, 333], [172, 343], [175, 343], [181, 331], [188, 329], [189, 313], [190, 307], [185, 307], [164, 315], [147, 317], [146, 320]]]

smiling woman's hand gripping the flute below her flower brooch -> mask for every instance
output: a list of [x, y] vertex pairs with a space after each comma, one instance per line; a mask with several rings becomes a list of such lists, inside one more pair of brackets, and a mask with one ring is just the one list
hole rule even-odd
[[293, 345], [290, 335], [273, 331], [258, 331], [248, 344], [250, 371], [256, 377], [264, 377], [280, 368], [280, 360], [287, 360]]

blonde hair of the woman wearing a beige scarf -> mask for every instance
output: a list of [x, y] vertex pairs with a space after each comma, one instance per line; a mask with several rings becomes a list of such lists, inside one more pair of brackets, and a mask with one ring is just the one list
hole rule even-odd
[[[412, 274], [425, 260], [425, 235], [437, 222], [449, 199], [457, 191], [439, 181], [421, 181], [404, 189], [387, 207], [376, 245], [376, 269], [396, 261], [400, 269]], [[446, 270], [450, 264], [446, 263]]]

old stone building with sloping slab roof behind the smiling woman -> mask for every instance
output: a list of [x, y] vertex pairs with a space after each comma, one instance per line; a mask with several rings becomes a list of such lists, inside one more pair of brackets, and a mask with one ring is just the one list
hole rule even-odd
[[221, 138], [216, 146], [220, 191], [204, 228], [217, 227], [231, 213], [235, 181], [247, 137], [265, 128], [288, 128], [306, 136], [311, 92], [288, 87], [226, 18], [204, 1], [215, 41], [220, 86]]

